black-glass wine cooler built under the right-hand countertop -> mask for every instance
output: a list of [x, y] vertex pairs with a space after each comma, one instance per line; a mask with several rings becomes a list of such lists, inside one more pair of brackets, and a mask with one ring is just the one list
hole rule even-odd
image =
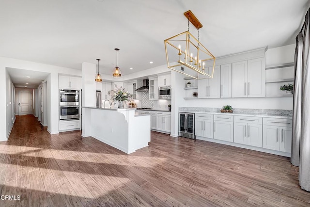
[[179, 112], [179, 136], [195, 139], [195, 113]]

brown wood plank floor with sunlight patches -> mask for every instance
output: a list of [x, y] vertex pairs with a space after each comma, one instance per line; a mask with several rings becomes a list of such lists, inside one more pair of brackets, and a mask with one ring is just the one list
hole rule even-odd
[[50, 135], [33, 116], [18, 116], [0, 143], [0, 192], [20, 200], [0, 206], [310, 206], [289, 158], [151, 135], [149, 147], [126, 155], [80, 131]]

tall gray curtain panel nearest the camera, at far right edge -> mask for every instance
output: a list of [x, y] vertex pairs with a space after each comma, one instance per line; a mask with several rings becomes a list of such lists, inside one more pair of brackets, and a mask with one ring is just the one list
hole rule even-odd
[[310, 10], [305, 17], [301, 72], [299, 185], [310, 191]]

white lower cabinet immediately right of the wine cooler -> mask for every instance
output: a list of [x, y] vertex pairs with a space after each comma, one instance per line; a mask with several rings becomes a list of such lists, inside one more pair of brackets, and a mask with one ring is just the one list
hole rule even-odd
[[195, 114], [195, 136], [213, 139], [213, 114]]

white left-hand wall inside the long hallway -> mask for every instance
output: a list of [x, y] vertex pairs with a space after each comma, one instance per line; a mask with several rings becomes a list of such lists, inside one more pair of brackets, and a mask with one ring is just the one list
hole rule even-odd
[[[1, 116], [1, 118], [3, 118], [3, 120], [5, 121], [5, 123], [3, 125], [3, 129], [2, 129], [3, 132], [5, 132], [5, 134], [4, 133], [1, 134], [0, 141], [3, 141], [4, 139], [9, 138], [11, 129], [13, 127], [13, 121], [15, 119], [15, 115], [13, 114], [13, 110], [14, 110], [14, 105], [13, 105], [14, 85], [12, 83], [12, 80], [11, 80], [11, 77], [10, 77], [8, 71], [7, 70], [4, 70], [4, 71], [5, 71], [5, 76], [3, 76], [3, 77], [4, 77], [5, 81], [3, 81], [3, 82], [5, 84], [5, 87], [3, 87], [3, 90], [5, 90], [5, 96], [2, 96], [2, 97], [5, 97], [5, 99], [2, 99], [2, 100], [5, 104], [5, 108], [2, 108], [2, 109], [5, 109], [5, 111], [3, 110], [1, 114], [4, 115], [4, 113], [5, 113], [6, 116]], [[1, 140], [2, 136], [4, 138], [3, 140]]]

